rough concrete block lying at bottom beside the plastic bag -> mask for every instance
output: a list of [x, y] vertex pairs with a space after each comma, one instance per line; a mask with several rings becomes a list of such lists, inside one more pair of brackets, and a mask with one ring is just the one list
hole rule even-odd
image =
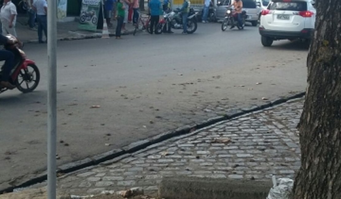
[[159, 184], [158, 197], [165, 199], [264, 199], [271, 182], [164, 177]]

